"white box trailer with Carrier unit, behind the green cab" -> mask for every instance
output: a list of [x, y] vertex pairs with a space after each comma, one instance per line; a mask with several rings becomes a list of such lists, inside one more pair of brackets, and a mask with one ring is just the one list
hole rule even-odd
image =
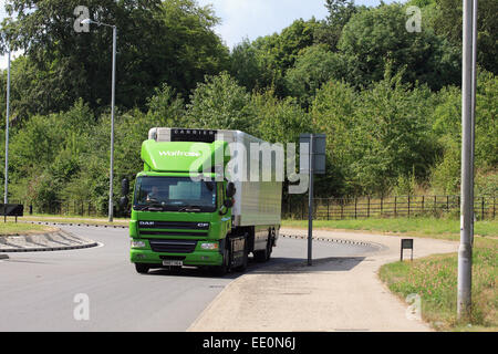
[[[190, 140], [199, 136], [199, 142], [228, 143], [229, 165], [235, 167], [235, 174], [226, 177], [237, 189], [232, 208], [235, 227], [280, 225], [283, 173], [277, 162], [283, 163], [283, 149], [273, 146], [276, 149], [268, 150], [269, 143], [240, 131], [155, 127], [148, 132], [148, 138], [156, 142], [180, 140], [185, 135]], [[209, 138], [206, 139], [206, 135]], [[269, 154], [257, 150], [258, 147], [266, 148]]]

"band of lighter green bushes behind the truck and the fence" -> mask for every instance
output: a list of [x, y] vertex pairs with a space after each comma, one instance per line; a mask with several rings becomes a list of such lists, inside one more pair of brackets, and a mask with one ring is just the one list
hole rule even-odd
[[[252, 95], [228, 74], [207, 77], [190, 103], [163, 86], [147, 112], [118, 112], [115, 122], [116, 190], [122, 177], [142, 169], [141, 144], [153, 126], [241, 128], [261, 138], [297, 142], [300, 133], [328, 134], [328, 174], [322, 195], [413, 191], [424, 186], [458, 192], [460, 175], [458, 88], [438, 93], [411, 87], [401, 75], [386, 76], [369, 90], [329, 81], [309, 112], [291, 97], [269, 90]], [[476, 183], [496, 192], [496, 108], [498, 79], [481, 75], [476, 126]], [[495, 100], [495, 101], [492, 101]], [[62, 199], [92, 200], [106, 210], [110, 114], [97, 117], [79, 101], [70, 111], [33, 116], [11, 139], [11, 192], [45, 205]]]

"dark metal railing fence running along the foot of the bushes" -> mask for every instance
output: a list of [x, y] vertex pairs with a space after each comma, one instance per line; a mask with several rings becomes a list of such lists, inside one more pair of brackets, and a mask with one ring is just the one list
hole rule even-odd
[[[30, 204], [14, 200], [24, 206], [24, 215], [55, 215], [105, 217], [106, 205], [87, 200], [55, 200], [46, 204]], [[115, 204], [115, 215], [122, 212]], [[313, 218], [318, 220], [340, 220], [361, 218], [396, 218], [430, 216], [442, 217], [460, 211], [460, 196], [387, 196], [387, 197], [344, 197], [314, 198]], [[497, 212], [495, 196], [474, 198], [474, 212], [477, 220], [494, 220]], [[308, 196], [292, 196], [282, 200], [283, 219], [308, 219]]]

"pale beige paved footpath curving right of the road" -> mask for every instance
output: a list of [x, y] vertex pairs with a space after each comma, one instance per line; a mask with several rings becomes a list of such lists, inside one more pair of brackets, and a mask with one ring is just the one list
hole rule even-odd
[[[282, 228], [280, 233], [304, 237], [307, 230]], [[224, 289], [188, 331], [432, 330], [411, 320], [408, 304], [378, 279], [382, 264], [400, 260], [401, 237], [326, 230], [314, 230], [313, 237], [373, 243], [377, 251], [322, 259], [312, 267], [300, 262], [249, 272]], [[414, 258], [458, 250], [455, 241], [413, 239]], [[408, 250], [405, 254], [409, 258]]]

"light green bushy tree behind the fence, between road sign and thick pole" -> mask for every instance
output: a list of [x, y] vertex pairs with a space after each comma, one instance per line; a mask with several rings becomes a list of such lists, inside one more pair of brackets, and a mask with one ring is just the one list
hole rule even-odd
[[387, 192], [398, 176], [427, 177], [436, 153], [430, 134], [432, 93], [409, 87], [402, 73], [361, 93], [355, 111], [357, 126], [353, 175], [365, 192]]

